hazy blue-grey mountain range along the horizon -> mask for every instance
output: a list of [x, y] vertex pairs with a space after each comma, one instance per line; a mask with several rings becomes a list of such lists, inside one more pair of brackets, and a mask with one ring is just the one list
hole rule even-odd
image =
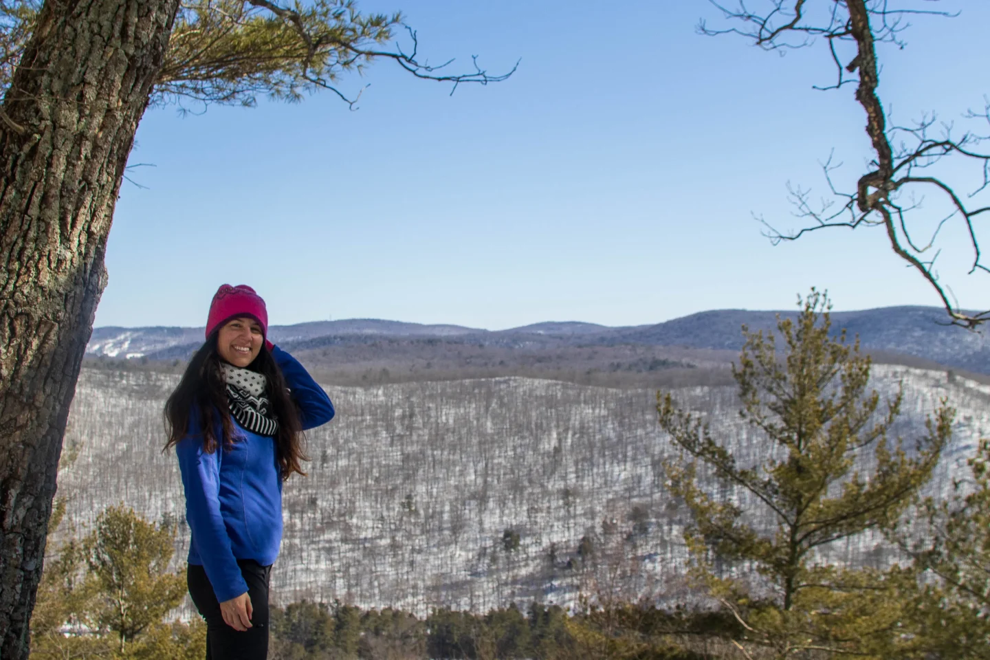
[[[450, 325], [422, 325], [377, 319], [318, 321], [295, 326], [272, 326], [270, 336], [290, 350], [332, 346], [373, 348], [381, 357], [409, 353], [411, 345], [462, 347], [499, 346], [529, 352], [559, 351], [568, 346], [671, 346], [739, 351], [742, 327], [774, 330], [777, 315], [796, 312], [714, 310], [681, 317], [655, 326], [609, 328], [581, 322], [545, 322], [509, 330], [480, 330]], [[967, 371], [990, 373], [990, 340], [985, 333], [947, 326], [945, 314], [934, 307], [888, 307], [836, 312], [833, 327], [858, 335], [870, 351], [921, 358]], [[184, 359], [202, 343], [201, 328], [98, 328], [86, 348], [90, 356]], [[503, 357], [500, 357], [503, 359]], [[539, 361], [539, 360], [538, 360]]]

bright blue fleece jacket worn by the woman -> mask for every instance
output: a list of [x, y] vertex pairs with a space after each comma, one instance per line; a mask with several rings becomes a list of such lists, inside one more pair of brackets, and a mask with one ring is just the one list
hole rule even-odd
[[[303, 428], [330, 422], [334, 405], [323, 388], [296, 358], [278, 346], [271, 353], [299, 407]], [[175, 445], [192, 534], [189, 563], [205, 569], [217, 600], [223, 603], [247, 592], [238, 559], [267, 566], [278, 556], [282, 480], [273, 438], [247, 431], [232, 419], [238, 433], [233, 448], [207, 453], [199, 415], [193, 411], [189, 417], [189, 431]], [[223, 437], [219, 422], [214, 432]]]

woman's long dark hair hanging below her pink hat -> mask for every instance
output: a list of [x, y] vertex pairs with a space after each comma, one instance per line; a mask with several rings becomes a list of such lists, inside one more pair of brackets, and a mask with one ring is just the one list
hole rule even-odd
[[[305, 437], [299, 422], [299, 410], [289, 396], [282, 370], [264, 346], [247, 368], [268, 379], [268, 399], [271, 410], [278, 419], [278, 432], [274, 440], [282, 479], [288, 479], [293, 472], [306, 476], [302, 461], [308, 461], [309, 457], [303, 446]], [[168, 441], [163, 451], [175, 446], [189, 433], [189, 421], [194, 408], [199, 413], [199, 435], [203, 440], [203, 450], [213, 453], [221, 443], [225, 449], [230, 449], [234, 445], [235, 430], [231, 411], [227, 407], [227, 384], [220, 368], [217, 332], [211, 334], [189, 360], [182, 380], [165, 402], [164, 421]], [[220, 416], [223, 429], [223, 437], [220, 438], [215, 432], [215, 415]]]

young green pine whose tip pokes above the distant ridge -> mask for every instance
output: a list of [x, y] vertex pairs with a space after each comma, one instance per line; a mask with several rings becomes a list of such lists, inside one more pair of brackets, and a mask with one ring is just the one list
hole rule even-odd
[[[897, 519], [931, 476], [954, 414], [943, 403], [914, 452], [889, 438], [902, 396], [878, 413], [879, 395], [867, 392], [870, 359], [844, 331], [832, 335], [830, 309], [812, 289], [796, 319], [778, 319], [782, 352], [772, 334], [743, 328], [733, 372], [740, 417], [761, 437], [752, 460], [657, 395], [660, 426], [693, 459], [665, 467], [692, 515], [685, 538], [695, 572], [740, 618], [747, 643], [776, 658], [870, 656], [892, 638], [902, 615], [892, 575], [823, 565], [817, 551]], [[744, 512], [740, 495], [754, 509]], [[713, 557], [756, 573], [716, 571]]]

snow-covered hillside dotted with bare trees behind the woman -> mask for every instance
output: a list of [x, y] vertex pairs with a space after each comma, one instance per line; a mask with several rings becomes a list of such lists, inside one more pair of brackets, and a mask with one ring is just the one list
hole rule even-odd
[[[176, 381], [83, 370], [66, 434], [78, 455], [58, 478], [78, 531], [121, 502], [149, 519], [183, 518], [174, 455], [161, 453], [162, 404]], [[900, 381], [905, 438], [924, 432], [940, 397], [958, 411], [935, 482], [947, 488], [990, 430], [990, 387], [874, 368], [881, 394]], [[310, 474], [285, 488], [276, 601], [340, 598], [422, 612], [569, 603], [579, 589], [683, 595], [683, 512], [661, 471], [676, 454], [657, 427], [653, 390], [500, 378], [328, 392], [338, 418], [310, 432]], [[675, 396], [705, 411], [743, 456], [763, 451], [739, 425], [733, 388]], [[182, 526], [177, 562], [187, 533]], [[830, 554], [868, 558], [874, 542]]]

